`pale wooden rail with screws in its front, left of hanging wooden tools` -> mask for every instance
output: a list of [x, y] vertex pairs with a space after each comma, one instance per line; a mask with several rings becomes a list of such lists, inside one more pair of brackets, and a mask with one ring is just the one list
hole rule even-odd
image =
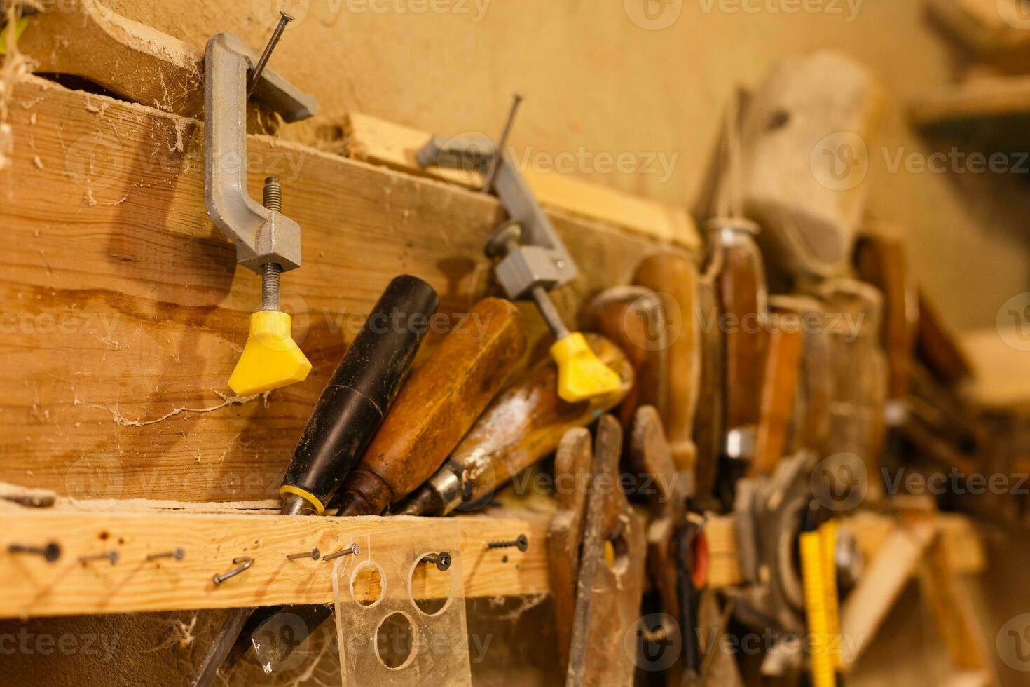
[[[248, 514], [184, 514], [115, 510], [89, 512], [19, 509], [3, 515], [0, 539], [0, 617], [130, 613], [176, 609], [214, 609], [333, 600], [333, 563], [286, 559], [286, 554], [317, 547], [324, 553], [377, 533], [424, 524], [424, 518], [283, 517]], [[461, 516], [466, 596], [547, 593], [547, 519]], [[486, 543], [524, 534], [524, 552], [487, 551]], [[31, 554], [11, 554], [11, 543], [57, 542], [54, 563]], [[358, 540], [362, 541], [362, 540]], [[147, 561], [146, 555], [182, 547], [182, 560]], [[426, 543], [426, 552], [432, 545]], [[82, 554], [118, 552], [119, 561], [81, 563]], [[508, 553], [507, 562], [505, 553]], [[232, 570], [236, 556], [253, 565], [215, 587], [211, 576]], [[416, 596], [433, 589], [413, 585]]]

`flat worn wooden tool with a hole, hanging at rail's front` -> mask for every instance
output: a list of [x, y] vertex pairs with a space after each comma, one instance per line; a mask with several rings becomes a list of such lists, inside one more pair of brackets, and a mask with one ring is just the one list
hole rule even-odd
[[[633, 684], [637, 656], [626, 651], [625, 636], [641, 621], [645, 521], [618, 486], [621, 454], [619, 422], [603, 415], [594, 438], [566, 687]], [[637, 632], [640, 637], [639, 626]], [[637, 642], [630, 646], [636, 649]]]

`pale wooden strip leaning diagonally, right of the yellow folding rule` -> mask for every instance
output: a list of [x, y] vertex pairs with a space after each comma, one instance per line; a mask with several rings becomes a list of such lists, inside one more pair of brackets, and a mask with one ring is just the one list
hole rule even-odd
[[887, 613], [908, 582], [927, 546], [936, 536], [936, 527], [921, 522], [895, 530], [866, 566], [858, 585], [840, 610], [842, 659], [847, 672], [855, 665], [862, 650], [872, 643]]

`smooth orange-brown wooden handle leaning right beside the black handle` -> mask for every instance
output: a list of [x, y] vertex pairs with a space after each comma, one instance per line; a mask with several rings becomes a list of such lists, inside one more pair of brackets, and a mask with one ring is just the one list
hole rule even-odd
[[504, 299], [477, 303], [401, 389], [344, 483], [339, 515], [379, 515], [432, 477], [524, 351], [518, 309]]

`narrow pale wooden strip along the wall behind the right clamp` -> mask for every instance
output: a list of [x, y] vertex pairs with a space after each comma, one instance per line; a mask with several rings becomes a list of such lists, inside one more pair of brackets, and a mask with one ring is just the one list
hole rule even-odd
[[[485, 181], [481, 174], [472, 171], [447, 167], [422, 169], [416, 154], [430, 140], [427, 132], [358, 112], [347, 116], [344, 132], [346, 152], [354, 160], [431, 176], [466, 188], [479, 188]], [[544, 207], [609, 222], [691, 250], [700, 248], [697, 228], [683, 208], [631, 196], [558, 171], [524, 167], [521, 172]]]

